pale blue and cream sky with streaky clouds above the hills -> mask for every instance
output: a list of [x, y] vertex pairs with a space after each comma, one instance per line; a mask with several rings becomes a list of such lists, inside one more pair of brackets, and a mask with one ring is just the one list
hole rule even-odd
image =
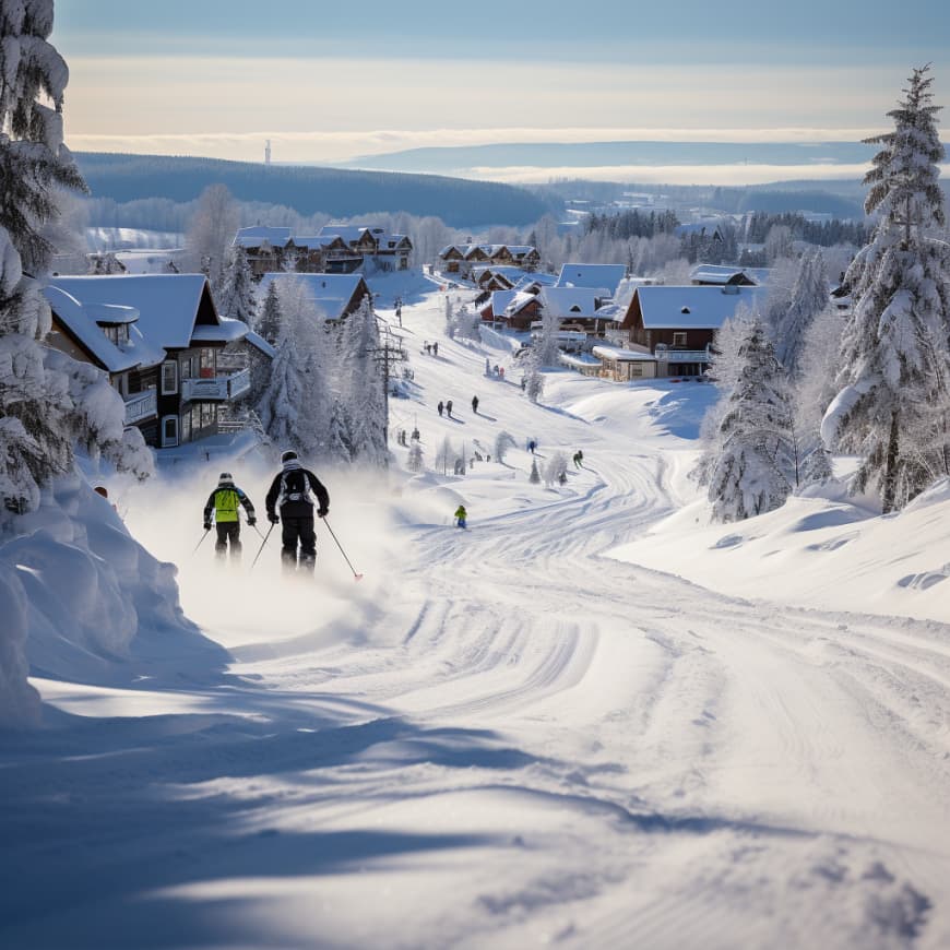
[[[57, 0], [73, 150], [333, 162], [419, 145], [854, 141], [911, 68], [950, 93], [950, 4]], [[899, 36], [895, 37], [895, 34]]]

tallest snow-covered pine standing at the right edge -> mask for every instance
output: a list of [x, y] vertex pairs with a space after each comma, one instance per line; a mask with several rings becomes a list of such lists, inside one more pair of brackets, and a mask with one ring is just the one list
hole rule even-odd
[[[869, 245], [846, 274], [854, 307], [842, 337], [839, 392], [822, 424], [829, 447], [862, 456], [854, 489], [902, 508], [947, 474], [950, 259], [929, 67], [914, 69], [905, 97], [888, 112], [894, 131], [865, 176], [865, 210], [878, 214]], [[940, 236], [942, 238], [942, 235]]]

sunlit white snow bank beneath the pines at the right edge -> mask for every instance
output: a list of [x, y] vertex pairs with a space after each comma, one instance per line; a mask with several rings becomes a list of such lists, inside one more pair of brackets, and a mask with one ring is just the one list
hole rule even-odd
[[853, 502], [796, 497], [727, 525], [696, 502], [608, 556], [734, 596], [950, 622], [950, 479], [896, 514]]

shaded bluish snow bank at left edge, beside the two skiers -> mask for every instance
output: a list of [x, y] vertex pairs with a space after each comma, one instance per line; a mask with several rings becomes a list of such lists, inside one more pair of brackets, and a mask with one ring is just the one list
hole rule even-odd
[[103, 678], [136, 638], [197, 628], [179, 606], [176, 569], [153, 558], [79, 476], [60, 479], [0, 543], [0, 725], [35, 724], [33, 673]]

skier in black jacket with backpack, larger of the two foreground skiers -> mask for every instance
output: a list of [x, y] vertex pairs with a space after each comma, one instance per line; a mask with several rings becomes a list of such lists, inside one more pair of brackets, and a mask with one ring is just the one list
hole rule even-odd
[[[317, 534], [313, 531], [313, 502], [310, 491], [317, 496], [317, 515], [330, 513], [330, 495], [320, 479], [305, 468], [293, 451], [281, 455], [282, 471], [271, 483], [268, 491], [268, 520], [271, 524], [283, 522], [281, 560], [287, 571], [297, 568], [297, 545], [300, 545], [300, 567], [312, 571], [317, 563]], [[280, 508], [280, 518], [277, 509]]]

